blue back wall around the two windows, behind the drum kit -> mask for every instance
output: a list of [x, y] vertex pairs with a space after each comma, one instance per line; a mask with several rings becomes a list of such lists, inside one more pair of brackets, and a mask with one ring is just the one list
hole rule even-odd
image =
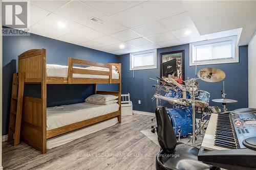
[[[155, 93], [152, 87], [155, 81], [149, 78], [160, 77], [160, 53], [185, 50], [185, 79], [195, 77], [195, 66], [189, 66], [189, 44], [159, 48], [157, 50], [157, 69], [130, 71], [129, 54], [120, 55], [119, 62], [122, 63], [122, 93], [130, 93], [134, 110], [154, 112], [155, 101], [151, 98]], [[248, 50], [247, 45], [239, 47], [239, 63], [215, 64], [198, 66], [198, 70], [204, 67], [220, 68], [226, 73], [225, 92], [226, 98], [238, 100], [238, 103], [227, 104], [229, 110], [248, 107]], [[199, 80], [200, 90], [210, 92], [210, 100], [222, 98], [222, 82], [208, 83]], [[141, 104], [138, 104], [141, 100]], [[219, 106], [221, 104], [210, 102], [210, 106]]]

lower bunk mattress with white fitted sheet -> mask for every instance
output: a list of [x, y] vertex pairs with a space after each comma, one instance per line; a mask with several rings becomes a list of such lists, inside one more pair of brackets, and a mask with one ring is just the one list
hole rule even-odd
[[77, 103], [47, 108], [47, 130], [81, 122], [93, 117], [109, 114], [119, 110], [117, 103], [109, 105], [95, 105]]

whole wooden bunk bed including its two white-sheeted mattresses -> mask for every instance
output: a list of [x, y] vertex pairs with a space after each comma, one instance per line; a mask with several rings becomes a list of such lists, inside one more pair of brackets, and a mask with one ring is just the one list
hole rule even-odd
[[[121, 123], [121, 64], [74, 58], [68, 59], [68, 66], [46, 64], [46, 50], [34, 49], [18, 56], [18, 72], [25, 74], [25, 83], [41, 84], [41, 98], [24, 96], [20, 138], [42, 154], [47, 151], [47, 140], [57, 137], [63, 140], [63, 134], [72, 136], [67, 132], [79, 136], [79, 133], [85, 133], [82, 128], [89, 127], [94, 131], [93, 126], [100, 128], [104, 122], [110, 123], [105, 123], [104, 126], [108, 127], [114, 124], [115, 117]], [[47, 108], [47, 84], [94, 84], [94, 94], [115, 95], [118, 102]], [[118, 91], [98, 91], [97, 84], [118, 84]]]

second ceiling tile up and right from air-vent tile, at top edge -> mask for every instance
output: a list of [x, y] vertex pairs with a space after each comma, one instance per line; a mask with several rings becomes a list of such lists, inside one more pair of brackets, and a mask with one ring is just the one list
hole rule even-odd
[[147, 1], [142, 4], [157, 19], [186, 12], [181, 1]]

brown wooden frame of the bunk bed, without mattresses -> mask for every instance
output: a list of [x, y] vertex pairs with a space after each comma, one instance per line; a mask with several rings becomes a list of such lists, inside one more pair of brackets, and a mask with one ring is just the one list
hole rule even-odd
[[[104, 67], [108, 68], [109, 71], [77, 68], [74, 65]], [[119, 74], [118, 79], [112, 79], [112, 66], [117, 68]], [[45, 154], [48, 138], [93, 125], [113, 117], [117, 117], [118, 122], [121, 123], [121, 64], [102, 64], [69, 58], [67, 77], [47, 77], [46, 69], [46, 49], [29, 50], [18, 56], [18, 72], [25, 74], [25, 83], [41, 84], [41, 98], [24, 96], [20, 132], [20, 139], [22, 141], [41, 151], [42, 154]], [[108, 79], [76, 78], [73, 76], [74, 74], [104, 75], [109, 77]], [[114, 83], [118, 84], [118, 91], [97, 90], [97, 84]], [[119, 97], [117, 99], [119, 110], [56, 129], [47, 130], [47, 84], [95, 84], [95, 94], [112, 94]]]

